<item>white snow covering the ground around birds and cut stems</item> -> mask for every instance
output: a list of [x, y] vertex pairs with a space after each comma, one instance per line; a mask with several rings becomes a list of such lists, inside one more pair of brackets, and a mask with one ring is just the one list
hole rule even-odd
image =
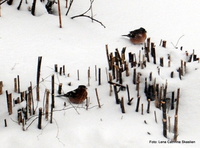
[[[1, 5], [0, 80], [4, 84], [4, 93], [0, 96], [0, 143], [3, 147], [199, 147], [200, 65], [198, 61], [187, 62], [187, 73], [182, 80], [176, 72], [181, 65], [180, 61], [187, 60], [185, 51], [192, 54], [194, 49], [195, 54], [200, 55], [198, 23], [200, 4], [197, 1], [96, 0], [93, 3], [94, 17], [106, 28], [97, 22], [92, 23], [88, 18], [70, 19], [74, 15], [85, 12], [89, 8], [89, 0], [74, 1], [68, 16], [65, 16], [67, 12], [65, 1], [61, 1], [63, 28], [59, 28], [57, 5], [54, 5], [55, 14], [50, 15], [45, 10], [45, 3], [37, 1], [36, 16], [32, 16], [28, 11], [32, 1], [28, 1], [28, 4], [23, 1], [20, 10], [16, 9], [19, 0], [14, 1], [11, 6], [6, 3]], [[178, 141], [181, 143], [168, 143], [173, 139], [173, 132], [168, 132], [168, 138], [163, 136], [162, 112], [155, 107], [154, 102], [151, 102], [150, 113], [146, 113], [144, 85], [140, 88], [140, 104], [144, 104], [144, 115], [141, 115], [141, 106], [139, 112], [135, 112], [137, 94], [135, 85], [132, 84], [133, 69], [130, 71], [131, 76], [124, 76], [123, 79], [123, 84], [129, 85], [130, 95], [134, 97], [132, 105], [127, 105], [126, 91], [119, 93], [119, 96], [125, 99], [125, 114], [122, 114], [120, 106], [116, 105], [114, 94], [109, 96], [105, 45], [108, 45], [109, 52], [114, 52], [116, 48], [121, 51], [126, 47], [127, 58], [129, 52], [136, 53], [138, 56], [139, 50], [143, 53], [141, 50], [143, 46], [133, 45], [121, 35], [139, 27], [144, 27], [148, 37], [155, 43], [157, 63], [159, 57], [164, 57], [164, 67], [160, 67], [160, 75], [157, 72], [158, 65], [154, 65], [152, 61], [147, 62], [147, 67], [144, 69], [137, 68], [137, 71], [142, 73], [142, 83], [152, 72], [153, 78], [156, 78], [159, 84], [165, 84], [167, 80], [168, 95], [180, 88]], [[159, 46], [161, 39], [167, 41], [167, 48]], [[178, 49], [175, 49], [172, 43]], [[181, 46], [183, 51], [180, 50]], [[168, 54], [172, 59], [171, 67], [167, 66]], [[27, 130], [23, 131], [22, 126], [16, 121], [17, 109], [25, 104], [15, 105], [13, 114], [8, 115], [5, 91], [12, 93], [13, 98], [19, 97], [19, 94], [14, 93], [13, 88], [14, 78], [18, 75], [22, 91], [27, 90], [30, 82], [33, 86], [36, 85], [39, 56], [42, 56], [41, 80], [43, 81], [40, 84], [41, 100], [38, 102], [38, 107], [43, 107], [45, 89], [51, 90], [53, 74], [55, 89], [57, 90], [59, 83], [63, 83], [63, 91], [66, 93], [80, 84], [88, 84], [87, 71], [90, 67], [91, 79], [88, 86], [90, 109], [85, 109], [85, 103], [70, 104], [67, 98], [56, 97], [53, 124], [43, 118], [42, 130], [39, 130], [37, 120], [32, 123], [36, 118], [33, 116], [25, 125]], [[59, 67], [65, 65], [66, 73], [70, 76], [60, 76], [55, 73], [55, 64]], [[101, 85], [98, 85], [95, 80], [95, 65], [102, 70]], [[80, 73], [80, 80], [77, 80], [77, 70]], [[175, 72], [174, 78], [170, 78], [171, 71]], [[72, 86], [68, 86], [69, 82]], [[98, 108], [95, 88], [98, 89], [101, 108]], [[33, 93], [36, 98], [35, 88]], [[64, 102], [67, 103], [66, 107], [63, 105]], [[35, 100], [35, 107], [36, 104]], [[154, 111], [157, 113], [158, 123], [155, 122]], [[38, 115], [38, 108], [36, 115]], [[169, 111], [168, 115], [171, 117], [171, 127], [173, 127], [174, 110]], [[7, 120], [7, 127], [4, 127], [4, 119]], [[191, 140], [195, 143], [184, 144], [182, 140]], [[162, 141], [166, 143], [161, 143]]]

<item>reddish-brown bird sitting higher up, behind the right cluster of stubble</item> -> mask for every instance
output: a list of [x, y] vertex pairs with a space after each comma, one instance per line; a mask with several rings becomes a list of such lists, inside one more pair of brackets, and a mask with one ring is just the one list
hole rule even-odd
[[147, 38], [147, 31], [143, 27], [140, 27], [139, 29], [130, 31], [129, 34], [122, 36], [129, 37], [133, 44], [142, 44]]

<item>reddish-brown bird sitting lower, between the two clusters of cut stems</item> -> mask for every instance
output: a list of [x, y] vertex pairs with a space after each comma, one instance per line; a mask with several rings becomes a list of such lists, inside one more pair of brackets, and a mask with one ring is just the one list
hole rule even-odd
[[70, 102], [74, 104], [81, 104], [87, 98], [87, 94], [87, 87], [85, 85], [79, 85], [77, 89], [57, 97], [68, 97]]

